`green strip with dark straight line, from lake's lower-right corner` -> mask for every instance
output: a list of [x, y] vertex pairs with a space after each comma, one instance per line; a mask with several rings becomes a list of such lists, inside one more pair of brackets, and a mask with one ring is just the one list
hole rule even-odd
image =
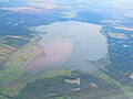
[[[112, 73], [106, 69], [106, 67], [109, 67], [111, 65], [110, 61], [103, 58], [98, 62], [89, 61], [89, 63], [98, 68], [95, 72], [92, 72], [91, 75], [96, 76], [96, 77], [103, 79], [104, 81], [119, 87], [126, 96], [130, 97], [130, 99], [133, 98], [132, 87], [120, 82], [120, 80], [123, 78], [120, 77], [117, 74]], [[116, 79], [117, 77], [120, 80]]]

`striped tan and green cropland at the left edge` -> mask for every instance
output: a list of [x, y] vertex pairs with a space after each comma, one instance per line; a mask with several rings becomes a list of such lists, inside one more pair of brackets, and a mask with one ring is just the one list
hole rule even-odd
[[0, 66], [20, 46], [28, 43], [23, 36], [2, 35], [0, 36]]

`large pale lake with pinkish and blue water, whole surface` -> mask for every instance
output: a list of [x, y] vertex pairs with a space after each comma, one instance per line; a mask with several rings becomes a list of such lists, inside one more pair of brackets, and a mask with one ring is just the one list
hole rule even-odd
[[[45, 56], [32, 61], [28, 68], [42, 69], [63, 67], [93, 69], [86, 61], [96, 61], [108, 53], [105, 37], [100, 33], [100, 25], [68, 21], [37, 26], [37, 32], [47, 32], [39, 44]], [[38, 64], [38, 67], [35, 67]]]

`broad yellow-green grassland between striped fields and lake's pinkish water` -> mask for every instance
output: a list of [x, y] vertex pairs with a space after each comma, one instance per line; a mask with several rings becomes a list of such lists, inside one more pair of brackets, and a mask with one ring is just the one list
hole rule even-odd
[[28, 43], [27, 45], [20, 47], [11, 54], [2, 65], [2, 70], [0, 72], [0, 82], [12, 81], [21, 77], [24, 73], [24, 64], [37, 57], [37, 55], [42, 52], [43, 51], [40, 46], [32, 43]]

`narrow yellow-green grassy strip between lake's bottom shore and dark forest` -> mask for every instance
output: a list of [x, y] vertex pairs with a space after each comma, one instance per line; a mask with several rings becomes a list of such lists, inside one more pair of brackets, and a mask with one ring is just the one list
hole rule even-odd
[[25, 79], [19, 79], [14, 84], [9, 82], [8, 85], [1, 86], [0, 90], [1, 92], [10, 97], [18, 96], [21, 89], [23, 89], [29, 82], [34, 82], [39, 79], [52, 78], [52, 77], [61, 76], [61, 75], [71, 75], [71, 72], [63, 70], [63, 69], [62, 70], [47, 70], [43, 73], [35, 74], [34, 76], [30, 76], [30, 77], [25, 76]]

